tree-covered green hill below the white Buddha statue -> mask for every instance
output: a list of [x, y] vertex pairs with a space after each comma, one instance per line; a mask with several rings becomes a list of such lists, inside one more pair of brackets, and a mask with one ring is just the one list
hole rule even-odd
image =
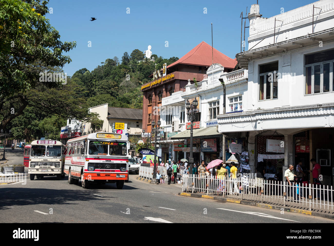
[[116, 56], [106, 59], [92, 72], [86, 68], [76, 71], [71, 80], [80, 86], [77, 94], [86, 98], [90, 107], [108, 103], [109, 107], [142, 109], [140, 88], [151, 80], [149, 75], [155, 69], [161, 69], [164, 63], [168, 66], [179, 59], [174, 56], [169, 59], [156, 54], [152, 56], [154, 61], [144, 59], [139, 49], [133, 50], [130, 55], [124, 52], [121, 61]]

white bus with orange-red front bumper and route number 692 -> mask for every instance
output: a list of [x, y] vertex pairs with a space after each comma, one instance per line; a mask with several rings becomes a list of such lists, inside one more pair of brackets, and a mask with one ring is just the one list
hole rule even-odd
[[128, 162], [130, 142], [128, 136], [117, 133], [91, 133], [70, 139], [66, 143], [65, 173], [68, 183], [82, 188], [90, 183], [116, 183], [122, 189], [129, 180]]

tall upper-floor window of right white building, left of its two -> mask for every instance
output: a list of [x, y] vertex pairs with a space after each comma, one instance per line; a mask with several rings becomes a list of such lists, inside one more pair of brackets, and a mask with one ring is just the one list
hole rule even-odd
[[278, 98], [278, 61], [260, 66], [259, 101]]

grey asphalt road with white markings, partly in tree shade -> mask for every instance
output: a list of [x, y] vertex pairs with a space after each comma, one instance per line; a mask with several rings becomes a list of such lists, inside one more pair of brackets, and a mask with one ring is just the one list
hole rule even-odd
[[309, 215], [177, 196], [180, 184], [149, 184], [130, 174], [116, 184], [89, 190], [44, 177], [0, 186], [2, 223], [333, 223]]

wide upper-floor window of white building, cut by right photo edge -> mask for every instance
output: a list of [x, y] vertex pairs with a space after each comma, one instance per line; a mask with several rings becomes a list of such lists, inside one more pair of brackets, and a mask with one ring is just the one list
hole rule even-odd
[[305, 55], [305, 95], [334, 91], [333, 57], [334, 49]]

